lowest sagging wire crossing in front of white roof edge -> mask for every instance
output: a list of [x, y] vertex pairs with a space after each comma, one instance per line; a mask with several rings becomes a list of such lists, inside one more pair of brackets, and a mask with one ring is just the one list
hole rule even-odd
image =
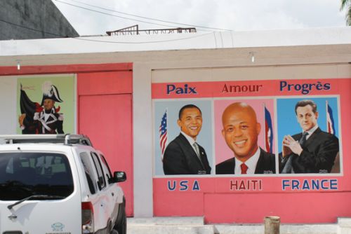
[[102, 40], [94, 40], [94, 39], [83, 39], [83, 38], [80, 38], [80, 37], [68, 37], [68, 36], [62, 36], [60, 34], [53, 34], [51, 32], [46, 32], [46, 31], [43, 31], [43, 30], [39, 30], [39, 29], [33, 29], [33, 28], [30, 28], [30, 27], [25, 27], [23, 25], [18, 25], [18, 24], [15, 24], [13, 22], [8, 22], [6, 20], [0, 20], [0, 22], [5, 22], [9, 25], [15, 25], [16, 27], [22, 27], [24, 29], [29, 29], [29, 30], [32, 30], [32, 31], [35, 31], [35, 32], [41, 32], [41, 33], [44, 33], [44, 34], [51, 34], [53, 36], [59, 36], [60, 38], [70, 38], [70, 39], [76, 39], [76, 40], [81, 40], [81, 41], [95, 41], [95, 42], [100, 42], [100, 43], [118, 43], [118, 44], [144, 44], [144, 43], [163, 43], [163, 42], [171, 42], [171, 41], [183, 41], [183, 40], [187, 40], [187, 39], [194, 39], [194, 38], [197, 38], [197, 37], [200, 37], [200, 36], [207, 36], [208, 34], [212, 34], [212, 33], [208, 33], [208, 34], [200, 34], [200, 35], [196, 35], [196, 36], [189, 36], [187, 38], [183, 38], [183, 39], [171, 39], [171, 40], [164, 40], [164, 41], [138, 41], [138, 42], [128, 42], [128, 41], [102, 41]]

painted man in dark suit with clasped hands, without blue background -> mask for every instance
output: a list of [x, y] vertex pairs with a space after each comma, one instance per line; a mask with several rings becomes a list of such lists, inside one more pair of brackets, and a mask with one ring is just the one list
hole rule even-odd
[[295, 106], [303, 132], [284, 136], [281, 173], [329, 173], [339, 151], [336, 136], [323, 132], [317, 124], [317, 105], [302, 100]]

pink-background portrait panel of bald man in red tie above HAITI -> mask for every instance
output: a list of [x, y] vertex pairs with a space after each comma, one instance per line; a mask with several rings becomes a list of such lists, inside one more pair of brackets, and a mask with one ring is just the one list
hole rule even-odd
[[215, 101], [216, 174], [276, 174], [274, 99]]

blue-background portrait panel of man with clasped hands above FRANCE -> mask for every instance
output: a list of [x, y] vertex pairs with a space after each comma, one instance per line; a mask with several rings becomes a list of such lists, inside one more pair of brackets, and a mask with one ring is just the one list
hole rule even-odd
[[339, 173], [337, 97], [277, 99], [279, 173]]

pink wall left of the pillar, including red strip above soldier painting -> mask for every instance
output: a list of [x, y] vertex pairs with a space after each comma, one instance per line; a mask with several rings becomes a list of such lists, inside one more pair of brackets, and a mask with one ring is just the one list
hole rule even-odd
[[[88, 135], [111, 165], [124, 170], [126, 212], [133, 216], [133, 64], [69, 64], [0, 67], [0, 76], [77, 74], [77, 129]], [[107, 114], [111, 113], [111, 115]]]

